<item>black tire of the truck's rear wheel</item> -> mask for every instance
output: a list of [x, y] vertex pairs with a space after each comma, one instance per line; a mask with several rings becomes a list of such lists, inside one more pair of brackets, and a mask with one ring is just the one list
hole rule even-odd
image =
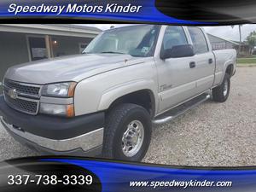
[[[225, 84], [228, 85], [227, 92], [224, 94]], [[225, 73], [222, 84], [212, 89], [212, 97], [215, 102], [225, 102], [230, 95], [230, 74]]]

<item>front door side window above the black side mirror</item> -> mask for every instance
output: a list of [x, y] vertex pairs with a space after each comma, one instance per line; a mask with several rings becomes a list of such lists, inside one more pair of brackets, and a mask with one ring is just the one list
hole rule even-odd
[[188, 44], [181, 26], [167, 26], [163, 39], [163, 49], [172, 49], [173, 46]]

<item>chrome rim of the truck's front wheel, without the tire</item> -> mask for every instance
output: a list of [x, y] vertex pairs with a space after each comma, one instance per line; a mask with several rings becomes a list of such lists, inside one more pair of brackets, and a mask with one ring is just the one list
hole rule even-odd
[[133, 120], [127, 125], [122, 137], [122, 151], [127, 157], [131, 157], [142, 148], [144, 140], [144, 127], [141, 121]]

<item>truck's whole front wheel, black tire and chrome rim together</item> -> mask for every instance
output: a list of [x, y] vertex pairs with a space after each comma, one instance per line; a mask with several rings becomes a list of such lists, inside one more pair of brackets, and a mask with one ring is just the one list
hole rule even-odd
[[145, 108], [131, 103], [120, 104], [107, 114], [103, 157], [142, 160], [148, 150], [151, 131], [150, 115]]

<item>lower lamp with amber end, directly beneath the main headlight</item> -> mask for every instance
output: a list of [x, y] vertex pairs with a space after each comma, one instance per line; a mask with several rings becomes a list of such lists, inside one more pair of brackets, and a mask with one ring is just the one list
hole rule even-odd
[[55, 105], [49, 103], [40, 104], [40, 113], [52, 114], [57, 116], [73, 117], [74, 108], [73, 104], [71, 105]]

